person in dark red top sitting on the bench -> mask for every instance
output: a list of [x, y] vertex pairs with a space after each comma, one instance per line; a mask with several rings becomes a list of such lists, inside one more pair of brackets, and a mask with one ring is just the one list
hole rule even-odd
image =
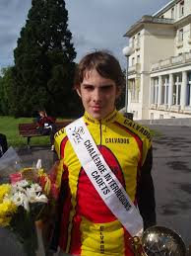
[[54, 150], [54, 134], [57, 129], [55, 126], [55, 118], [47, 116], [45, 111], [38, 111], [38, 117], [36, 118], [36, 128], [38, 128], [40, 134], [49, 134], [51, 150]]

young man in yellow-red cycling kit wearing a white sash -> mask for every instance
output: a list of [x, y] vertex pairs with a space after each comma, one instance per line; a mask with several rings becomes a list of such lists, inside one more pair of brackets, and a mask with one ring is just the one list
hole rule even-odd
[[136, 221], [143, 218], [139, 230], [156, 224], [151, 133], [116, 110], [124, 84], [118, 60], [107, 51], [89, 53], [78, 65], [74, 86], [85, 114], [55, 134], [59, 168], [49, 177], [59, 191], [50, 245], [59, 245], [59, 255], [131, 256]]

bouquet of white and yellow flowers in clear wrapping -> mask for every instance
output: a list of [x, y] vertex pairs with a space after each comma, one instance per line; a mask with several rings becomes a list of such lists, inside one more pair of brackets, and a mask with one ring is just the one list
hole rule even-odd
[[35, 221], [48, 202], [38, 182], [43, 170], [36, 167], [12, 173], [10, 183], [0, 185], [0, 226], [17, 234], [29, 256], [36, 255], [39, 241]]

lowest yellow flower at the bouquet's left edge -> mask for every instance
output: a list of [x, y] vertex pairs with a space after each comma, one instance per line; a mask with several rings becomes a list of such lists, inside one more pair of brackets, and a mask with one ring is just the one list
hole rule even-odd
[[17, 213], [17, 206], [11, 201], [4, 201], [0, 204], [0, 226], [10, 223], [14, 213]]

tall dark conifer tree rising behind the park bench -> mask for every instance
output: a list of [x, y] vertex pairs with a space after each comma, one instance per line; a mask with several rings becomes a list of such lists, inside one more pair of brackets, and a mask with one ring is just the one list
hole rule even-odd
[[48, 114], [74, 117], [76, 51], [63, 0], [32, 0], [26, 26], [14, 50], [15, 116]]

